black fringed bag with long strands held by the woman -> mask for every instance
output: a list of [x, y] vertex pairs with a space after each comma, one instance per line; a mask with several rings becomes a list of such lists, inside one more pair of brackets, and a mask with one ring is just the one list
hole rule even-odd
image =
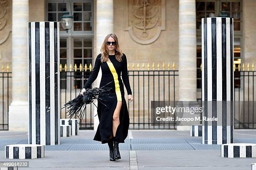
[[[113, 82], [113, 80], [111, 82]], [[108, 85], [108, 84], [106, 84], [106, 85]], [[95, 100], [95, 99], [97, 99], [98, 102], [101, 102], [103, 105], [105, 105], [104, 104], [105, 100], [103, 98], [105, 96], [110, 97], [109, 93], [111, 90], [111, 88], [107, 88], [105, 86], [100, 87], [100, 88], [94, 87], [93, 89], [87, 89], [84, 92], [84, 95], [81, 95], [81, 94], [77, 95], [77, 97], [75, 97], [73, 100], [69, 100], [69, 102], [64, 104], [64, 107], [62, 107], [61, 109], [67, 107], [66, 114], [68, 114], [68, 116], [70, 118], [69, 120], [71, 120], [72, 117], [78, 117], [79, 123], [81, 123], [83, 120], [83, 117], [84, 117], [84, 112], [86, 110], [86, 105], [91, 104], [91, 103], [94, 104], [93, 100]], [[107, 105], [105, 105], [105, 106], [108, 107]]]

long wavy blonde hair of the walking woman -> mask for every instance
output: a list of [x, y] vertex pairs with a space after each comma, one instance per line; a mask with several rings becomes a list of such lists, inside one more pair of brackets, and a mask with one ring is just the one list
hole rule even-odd
[[115, 34], [108, 34], [105, 37], [105, 40], [103, 41], [101, 48], [100, 48], [100, 52], [101, 52], [101, 62], [106, 62], [108, 61], [108, 47], [107, 47], [107, 42], [108, 42], [108, 38], [112, 37], [115, 39], [116, 45], [115, 45], [115, 58], [118, 61], [122, 61], [122, 55], [123, 52], [120, 50], [119, 44], [118, 44], [118, 37]]

